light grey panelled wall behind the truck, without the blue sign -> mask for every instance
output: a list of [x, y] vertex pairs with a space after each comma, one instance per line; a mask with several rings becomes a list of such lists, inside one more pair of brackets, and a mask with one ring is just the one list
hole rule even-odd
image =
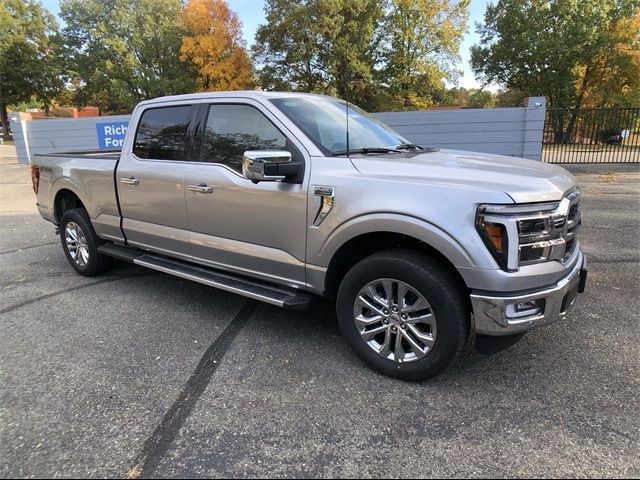
[[[497, 153], [540, 160], [545, 119], [544, 97], [526, 107], [385, 112], [376, 116], [418, 145]], [[129, 116], [15, 122], [11, 128], [18, 160], [34, 153], [96, 150], [96, 124], [126, 122]]]

